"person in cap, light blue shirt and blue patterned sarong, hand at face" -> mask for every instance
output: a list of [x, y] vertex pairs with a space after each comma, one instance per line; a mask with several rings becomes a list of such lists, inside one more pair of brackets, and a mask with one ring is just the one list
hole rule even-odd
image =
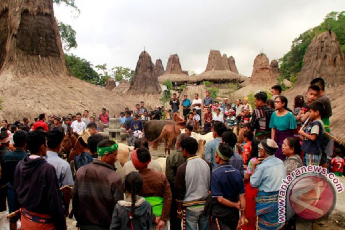
[[258, 229], [282, 229], [284, 223], [278, 222], [278, 193], [286, 170], [282, 160], [274, 153], [278, 145], [272, 139], [259, 144], [259, 158], [255, 161], [250, 185], [258, 188], [256, 196], [256, 216]]

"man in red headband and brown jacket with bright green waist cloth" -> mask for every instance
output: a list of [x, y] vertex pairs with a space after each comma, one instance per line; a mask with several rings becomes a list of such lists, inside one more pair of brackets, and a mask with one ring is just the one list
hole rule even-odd
[[168, 230], [166, 222], [169, 220], [170, 214], [171, 191], [167, 177], [161, 172], [148, 169], [151, 155], [144, 146], [133, 151], [132, 162], [144, 181], [139, 196], [145, 197], [146, 201], [152, 205], [154, 228]]

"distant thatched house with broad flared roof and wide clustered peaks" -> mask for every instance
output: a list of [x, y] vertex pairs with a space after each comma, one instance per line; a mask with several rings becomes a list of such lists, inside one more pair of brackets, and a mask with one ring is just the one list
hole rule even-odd
[[[235, 64], [235, 61], [233, 63]], [[196, 76], [196, 80], [198, 82], [210, 81], [212, 86], [221, 88], [221, 85], [224, 83], [242, 83], [247, 80], [247, 77], [231, 71], [225, 54], [222, 57], [218, 50], [211, 50], [206, 70]]]

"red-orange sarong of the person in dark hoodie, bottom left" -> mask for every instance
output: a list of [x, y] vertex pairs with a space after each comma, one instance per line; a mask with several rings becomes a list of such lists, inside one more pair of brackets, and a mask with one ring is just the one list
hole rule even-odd
[[21, 230], [54, 230], [55, 225], [49, 220], [51, 217], [46, 214], [40, 214], [35, 212], [30, 212], [24, 208], [20, 209], [21, 213]]

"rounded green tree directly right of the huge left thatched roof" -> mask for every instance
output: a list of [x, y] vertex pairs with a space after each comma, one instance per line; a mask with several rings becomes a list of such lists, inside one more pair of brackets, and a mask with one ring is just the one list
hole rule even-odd
[[93, 66], [89, 61], [83, 58], [79, 58], [73, 54], [65, 54], [65, 57], [69, 69], [76, 78], [90, 82], [92, 84], [99, 84], [100, 76], [93, 69]]

